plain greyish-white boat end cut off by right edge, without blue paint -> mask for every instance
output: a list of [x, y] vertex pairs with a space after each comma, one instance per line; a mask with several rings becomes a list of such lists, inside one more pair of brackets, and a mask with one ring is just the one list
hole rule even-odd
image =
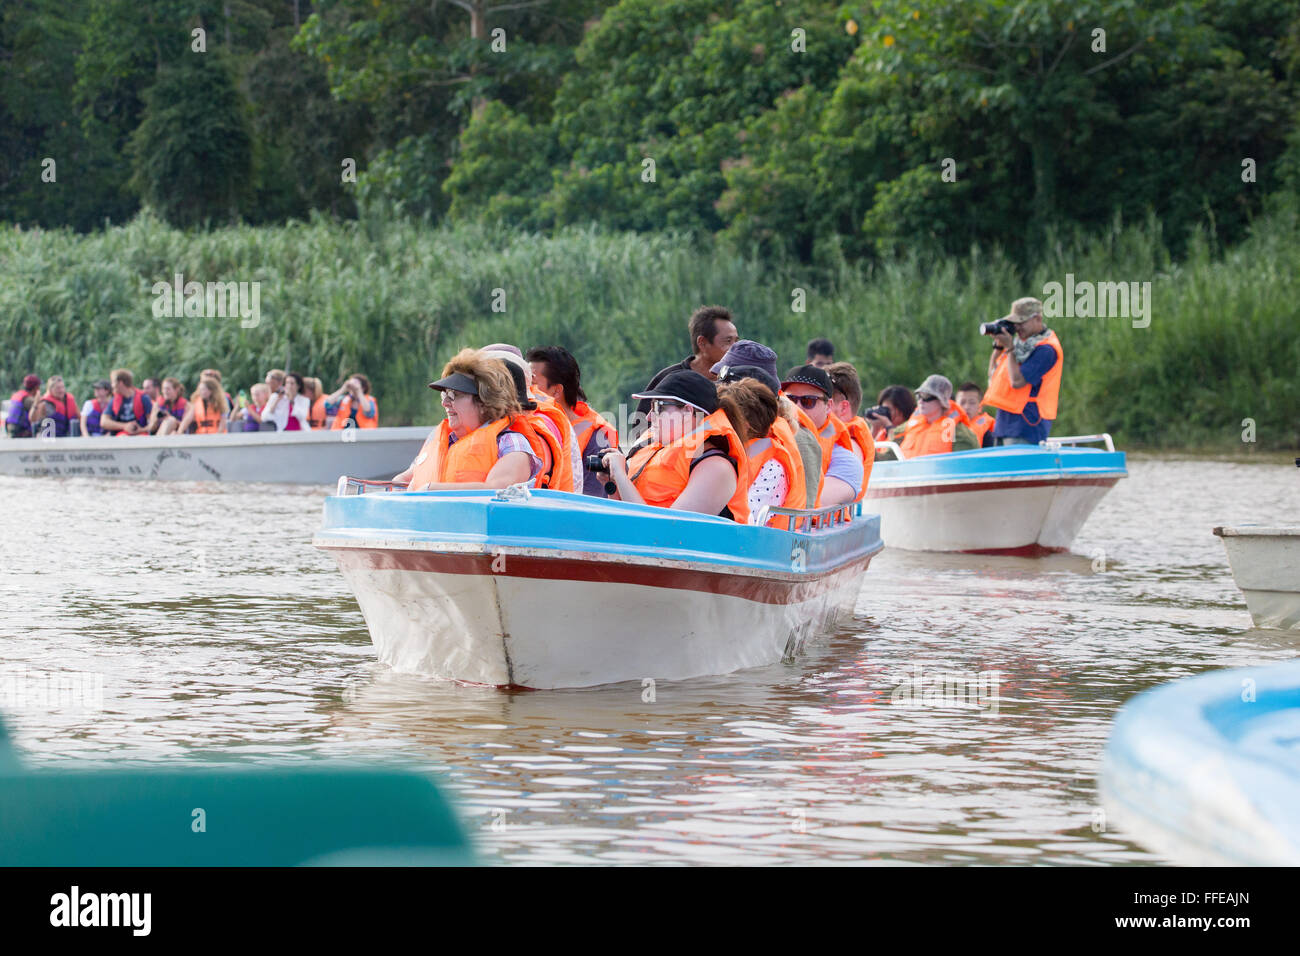
[[1256, 627], [1300, 630], [1300, 527], [1216, 528]]

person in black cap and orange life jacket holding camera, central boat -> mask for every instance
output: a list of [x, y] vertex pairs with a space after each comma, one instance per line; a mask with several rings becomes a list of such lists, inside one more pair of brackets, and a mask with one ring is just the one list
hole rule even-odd
[[650, 401], [650, 441], [630, 460], [618, 449], [604, 451], [619, 498], [706, 515], [727, 509], [748, 522], [741, 481], [748, 428], [719, 403], [714, 384], [699, 372], [670, 372], [655, 389], [632, 397]]

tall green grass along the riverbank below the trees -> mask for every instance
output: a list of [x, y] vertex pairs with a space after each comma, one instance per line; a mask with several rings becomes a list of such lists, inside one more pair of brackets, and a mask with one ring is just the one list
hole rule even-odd
[[[915, 256], [876, 268], [774, 265], [672, 234], [575, 229], [540, 237], [410, 221], [181, 232], [142, 216], [90, 235], [0, 230], [0, 385], [61, 372], [78, 399], [117, 365], [192, 388], [214, 365], [231, 390], [274, 365], [370, 376], [386, 424], [439, 418], [425, 384], [464, 346], [564, 345], [594, 403], [616, 410], [689, 351], [686, 319], [720, 303], [783, 367], [826, 336], [859, 369], [868, 398], [931, 372], [983, 381], [976, 325], [1044, 282], [1152, 281], [1152, 323], [1053, 319], [1066, 351], [1057, 433], [1109, 431], [1124, 444], [1296, 447], [1300, 411], [1300, 222], [1275, 212], [1218, 250], [1197, 237], [1173, 261], [1157, 222], [1061, 237], [1022, 274], [998, 251]], [[151, 286], [260, 281], [261, 324], [155, 319]], [[494, 290], [504, 312], [494, 312]], [[792, 310], [802, 289], [806, 311]]]

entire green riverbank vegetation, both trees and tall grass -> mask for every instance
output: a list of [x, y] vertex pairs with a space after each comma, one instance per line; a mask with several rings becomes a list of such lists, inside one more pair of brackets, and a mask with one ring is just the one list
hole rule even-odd
[[[456, 349], [559, 342], [616, 410], [719, 302], [874, 393], [1072, 273], [1156, 299], [1052, 321], [1060, 429], [1295, 446], [1297, 78], [1294, 0], [6, 0], [0, 377], [361, 369], [429, 421]], [[176, 273], [261, 325], [153, 319]]]

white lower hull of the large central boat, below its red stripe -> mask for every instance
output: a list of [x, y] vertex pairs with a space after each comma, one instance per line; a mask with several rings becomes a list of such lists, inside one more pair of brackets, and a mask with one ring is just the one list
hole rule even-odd
[[[800, 601], [623, 581], [373, 567], [337, 550], [380, 661], [394, 670], [530, 688], [680, 680], [786, 659], [852, 613], [866, 562]], [[467, 555], [468, 557], [468, 555]], [[571, 555], [581, 561], [582, 555]], [[590, 557], [590, 555], [586, 555]]]

